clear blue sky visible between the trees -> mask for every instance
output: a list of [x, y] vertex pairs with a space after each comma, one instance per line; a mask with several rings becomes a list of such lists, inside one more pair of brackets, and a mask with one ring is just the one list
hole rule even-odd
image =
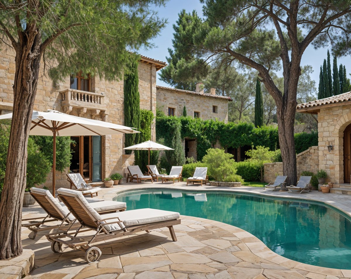
[[[166, 61], [166, 56], [168, 56], [167, 48], [172, 47], [173, 39], [173, 28], [172, 25], [178, 19], [178, 13], [181, 9], [185, 9], [187, 12], [192, 12], [194, 9], [197, 11], [199, 16], [202, 16], [202, 5], [198, 0], [170, 0], [166, 4], [166, 7], [157, 7], [156, 10], [159, 12], [161, 18], [168, 19], [168, 25], [164, 28], [159, 36], [153, 40], [157, 48], [151, 50], [141, 50], [142, 55]], [[317, 49], [315, 50], [312, 46], [308, 47], [302, 57], [301, 65], [312, 65], [314, 72], [311, 75], [311, 78], [316, 81], [316, 86], [318, 87], [319, 82], [319, 68], [323, 64], [324, 58], [327, 56], [327, 49]], [[346, 56], [338, 58], [338, 65], [342, 63], [346, 66], [347, 76], [351, 72], [351, 57]], [[159, 75], [160, 71], [158, 71]], [[282, 75], [281, 73], [278, 75]], [[160, 81], [159, 76], [157, 78], [157, 85], [169, 86], [166, 83]]]

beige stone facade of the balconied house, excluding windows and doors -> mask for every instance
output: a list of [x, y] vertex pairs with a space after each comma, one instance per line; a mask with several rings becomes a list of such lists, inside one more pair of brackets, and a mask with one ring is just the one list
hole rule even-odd
[[[156, 113], [156, 71], [166, 64], [141, 56], [138, 66], [140, 108]], [[3, 50], [0, 54], [0, 114], [12, 112], [13, 81], [15, 73], [15, 55], [12, 49]], [[70, 89], [70, 77], [64, 82], [55, 84], [44, 73], [41, 63], [37, 95], [34, 110], [57, 110], [85, 118], [124, 124], [123, 81], [108, 82], [98, 77], [91, 78], [92, 92]], [[87, 102], [90, 100], [90, 102]], [[155, 140], [155, 123], [152, 125], [152, 140]], [[123, 157], [124, 136], [106, 135], [101, 137], [101, 178], [112, 173], [124, 173], [130, 157]], [[67, 170], [68, 171], [68, 170]], [[66, 173], [57, 174], [57, 186], [67, 186]], [[49, 175], [46, 183], [51, 186]]]

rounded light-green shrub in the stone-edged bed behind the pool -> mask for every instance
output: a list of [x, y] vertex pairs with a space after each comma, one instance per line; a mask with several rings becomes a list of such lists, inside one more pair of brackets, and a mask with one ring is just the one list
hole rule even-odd
[[216, 181], [242, 182], [241, 176], [237, 175], [234, 167], [233, 155], [225, 153], [223, 149], [207, 149], [202, 162], [207, 167], [208, 176]]

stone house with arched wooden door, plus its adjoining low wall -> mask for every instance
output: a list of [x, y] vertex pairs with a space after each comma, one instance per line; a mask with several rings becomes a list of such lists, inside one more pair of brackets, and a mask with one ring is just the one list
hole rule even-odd
[[[327, 172], [332, 193], [351, 194], [351, 92], [299, 104], [297, 112], [318, 117], [318, 146], [297, 154], [297, 175], [303, 170]], [[267, 171], [267, 172], [266, 172]], [[282, 163], [265, 164], [265, 181], [282, 174]]]

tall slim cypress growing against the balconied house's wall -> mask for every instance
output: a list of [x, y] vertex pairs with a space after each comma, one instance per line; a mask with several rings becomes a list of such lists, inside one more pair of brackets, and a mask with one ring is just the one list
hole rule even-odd
[[[138, 62], [128, 65], [128, 70], [124, 75], [124, 125], [140, 130], [140, 95]], [[128, 147], [138, 144], [140, 134], [125, 134], [124, 146]], [[126, 154], [131, 154], [131, 150], [126, 150]], [[135, 156], [138, 156], [135, 152]]]

